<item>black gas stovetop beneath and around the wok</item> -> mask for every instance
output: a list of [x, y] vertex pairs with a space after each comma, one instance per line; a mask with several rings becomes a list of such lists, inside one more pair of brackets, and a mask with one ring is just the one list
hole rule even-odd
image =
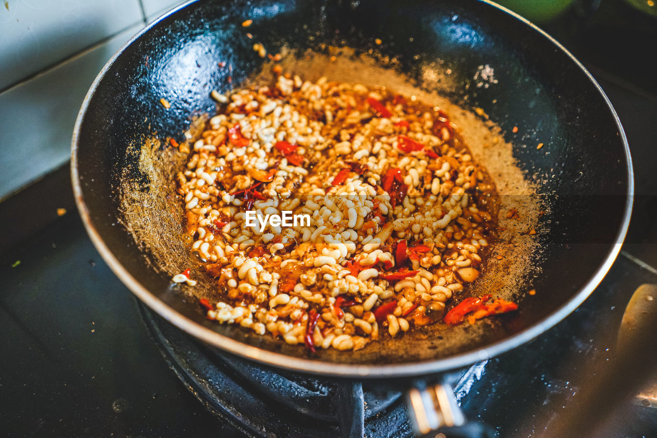
[[[622, 2], [603, 1], [597, 11], [582, 3], [546, 29], [585, 62], [620, 116], [635, 166], [632, 224], [616, 263], [572, 315], [446, 377], [468, 420], [502, 437], [532, 436], [568, 409], [584, 377], [614, 351], [631, 294], [657, 283], [657, 90], [644, 74], [647, 57], [622, 50], [646, 35], [654, 41], [657, 22]], [[616, 37], [602, 37], [609, 32]], [[34, 205], [43, 213], [16, 220]], [[256, 366], [198, 343], [141, 305], [87, 237], [68, 166], [0, 203], [0, 222], [12, 230], [0, 238], [7, 435], [412, 436], [402, 387]], [[636, 402], [623, 406], [610, 436], [657, 435], [657, 410], [646, 398]]]

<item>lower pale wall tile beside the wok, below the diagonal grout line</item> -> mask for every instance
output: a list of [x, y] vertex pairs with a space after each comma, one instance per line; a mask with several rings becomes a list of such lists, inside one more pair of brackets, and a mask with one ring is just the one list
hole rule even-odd
[[[133, 9], [137, 9], [137, 3], [133, 3]], [[3, 139], [7, 144], [22, 146], [6, 148], [0, 154], [0, 175], [4, 176], [0, 179], [0, 198], [11, 196], [54, 167], [68, 162], [71, 135], [81, 102], [107, 60], [143, 29], [139, 11], [135, 11], [130, 21], [133, 20], [136, 22], [132, 26], [110, 39], [74, 56], [62, 56], [66, 59], [54, 68], [0, 94]], [[12, 123], [14, 120], [22, 123], [16, 125]], [[20, 125], [39, 129], [25, 131]], [[24, 160], [26, 153], [32, 157], [28, 162]]]

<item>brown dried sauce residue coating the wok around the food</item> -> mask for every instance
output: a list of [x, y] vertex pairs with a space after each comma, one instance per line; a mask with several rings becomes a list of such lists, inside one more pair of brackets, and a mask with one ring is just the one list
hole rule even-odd
[[[529, 281], [538, 274], [534, 260], [540, 256], [539, 236], [544, 231], [539, 227], [539, 217], [547, 206], [539, 200], [535, 187], [516, 165], [512, 146], [504, 141], [499, 127], [487, 120], [481, 111], [479, 115], [469, 112], [436, 93], [426, 91], [449, 91], [457, 87], [458, 84], [453, 83], [449, 74], [441, 70], [440, 63], [426, 64], [424, 81], [411, 84], [395, 70], [394, 60], [356, 56], [350, 49], [328, 49], [323, 54], [306, 55], [283, 51], [283, 60], [279, 64], [284, 71], [300, 74], [309, 80], [327, 76], [330, 80], [388, 87], [405, 95], [415, 95], [422, 102], [440, 106], [449, 114], [474, 160], [486, 167], [499, 193], [498, 239], [483, 265], [484, 272], [472, 284], [470, 292], [473, 296], [491, 293], [496, 297], [518, 299], [524, 290], [531, 289], [528, 287]], [[271, 64], [267, 63], [260, 74], [250, 79], [250, 83], [269, 81]], [[120, 198], [124, 224], [145, 250], [154, 269], [163, 275], [173, 276], [193, 267], [192, 275], [198, 284], [193, 288], [182, 287], [197, 297], [212, 300], [214, 296], [216, 301], [217, 294], [221, 292], [215, 290], [215, 282], [191, 260], [182, 238], [184, 205], [176, 194], [175, 174], [187, 154], [179, 152], [178, 148], [163, 148], [160, 142], [152, 139], [145, 139], [134, 147], [141, 148], [139, 168], [148, 175], [150, 184], [145, 191], [129, 178], [122, 181]], [[511, 210], [514, 211], [513, 215], [508, 214]], [[535, 232], [530, 233], [530, 230]], [[520, 306], [522, 309], [522, 300]], [[323, 351], [321, 358], [352, 363], [422, 361], [460, 353], [505, 336], [505, 329], [495, 320], [478, 322], [474, 326], [434, 324], [398, 338], [384, 337], [357, 353]], [[299, 355], [304, 354], [303, 347], [298, 347], [298, 350]]]

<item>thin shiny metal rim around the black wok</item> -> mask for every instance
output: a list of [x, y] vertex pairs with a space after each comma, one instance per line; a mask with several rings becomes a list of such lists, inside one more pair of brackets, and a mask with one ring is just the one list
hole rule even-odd
[[412, 377], [412, 376], [421, 376], [424, 374], [433, 374], [438, 372], [444, 372], [447, 370], [453, 370], [457, 368], [463, 368], [475, 362], [484, 361], [486, 359], [491, 359], [501, 353], [505, 353], [511, 349], [522, 345], [530, 341], [533, 338], [536, 338], [543, 332], [549, 330], [555, 326], [562, 319], [570, 315], [583, 301], [597, 288], [597, 286], [602, 281], [602, 278], [606, 275], [609, 269], [612, 267], [618, 253], [622, 248], [622, 242], [625, 239], [627, 234], [627, 229], [629, 227], [629, 221], [632, 213], [633, 206], [633, 195], [634, 195], [634, 172], [631, 154], [629, 150], [629, 144], [627, 143], [627, 138], [625, 137], [625, 131], [623, 126], [620, 123], [618, 114], [612, 106], [610, 100], [602, 91], [599, 83], [591, 76], [589, 71], [579, 62], [575, 56], [570, 53], [565, 47], [563, 47], [556, 39], [551, 37], [548, 33], [541, 30], [539, 27], [535, 26], [532, 22], [523, 18], [522, 16], [516, 14], [515, 12], [510, 11], [509, 9], [498, 5], [490, 0], [478, 0], [482, 3], [487, 3], [487, 5], [497, 8], [507, 14], [510, 14], [512, 17], [520, 20], [523, 24], [530, 26], [535, 32], [540, 33], [543, 37], [548, 39], [557, 49], [562, 51], [572, 62], [579, 67], [581, 72], [591, 81], [595, 89], [600, 93], [602, 99], [606, 103], [608, 110], [612, 113], [614, 121], [616, 121], [616, 127], [620, 135], [620, 139], [623, 143], [623, 152], [625, 152], [625, 165], [627, 166], [627, 200], [625, 202], [625, 211], [622, 217], [622, 223], [616, 234], [616, 243], [614, 243], [611, 249], [607, 252], [604, 261], [600, 263], [599, 267], [593, 272], [591, 278], [579, 289], [579, 291], [574, 294], [568, 301], [566, 301], [561, 307], [556, 309], [553, 313], [547, 317], [535, 322], [534, 324], [524, 328], [520, 332], [513, 334], [512, 336], [501, 339], [484, 347], [468, 351], [466, 353], [461, 353], [458, 355], [453, 355], [451, 357], [446, 357], [442, 359], [435, 359], [432, 361], [422, 361], [422, 362], [409, 362], [402, 364], [340, 364], [336, 362], [328, 361], [319, 361], [313, 359], [302, 359], [299, 357], [292, 357], [284, 355], [283, 353], [275, 353], [273, 351], [267, 351], [242, 343], [233, 338], [223, 336], [210, 328], [206, 328], [194, 320], [187, 318], [168, 305], [161, 301], [158, 297], [152, 294], [148, 288], [145, 288], [141, 283], [139, 283], [131, 274], [125, 269], [125, 267], [120, 263], [120, 261], [114, 256], [114, 253], [110, 251], [108, 246], [104, 243], [101, 234], [93, 225], [91, 215], [89, 214], [89, 209], [87, 204], [85, 204], [81, 181], [79, 180], [79, 171], [78, 171], [78, 139], [79, 131], [84, 120], [84, 116], [87, 112], [90, 100], [93, 98], [97, 86], [108, 72], [112, 64], [116, 59], [124, 53], [125, 49], [129, 47], [134, 41], [141, 38], [145, 33], [149, 32], [154, 26], [159, 22], [164, 20], [164, 18], [174, 14], [175, 12], [184, 9], [196, 3], [198, 0], [189, 0], [178, 7], [171, 9], [168, 12], [160, 15], [150, 24], [145, 26], [141, 31], [135, 34], [127, 43], [125, 43], [106, 64], [103, 66], [101, 72], [94, 79], [87, 95], [82, 102], [81, 108], [78, 112], [78, 118], [76, 120], [76, 125], [73, 131], [72, 144], [71, 144], [71, 180], [73, 186], [73, 193], [76, 200], [76, 205], [78, 207], [79, 215], [83, 221], [83, 225], [91, 238], [91, 242], [95, 246], [96, 250], [101, 254], [102, 259], [108, 264], [112, 272], [118, 276], [118, 278], [123, 282], [125, 286], [137, 296], [143, 303], [145, 303], [150, 309], [158, 313], [160, 317], [168, 320], [171, 324], [177, 326], [187, 334], [194, 336], [194, 338], [203, 341], [213, 347], [217, 347], [223, 351], [227, 351], [233, 355], [237, 355], [244, 359], [248, 359], [254, 362], [259, 362], [268, 366], [273, 366], [275, 368], [282, 368], [284, 370], [290, 370], [295, 372], [304, 372], [306, 374], [314, 374], [317, 376], [326, 376], [326, 377], [339, 377], [339, 378], [393, 378], [393, 377]]

